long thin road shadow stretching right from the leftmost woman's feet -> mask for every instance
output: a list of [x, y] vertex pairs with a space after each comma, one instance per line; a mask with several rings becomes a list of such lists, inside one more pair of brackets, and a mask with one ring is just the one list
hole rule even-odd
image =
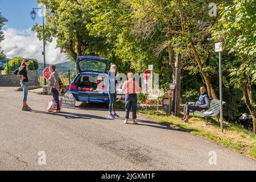
[[61, 116], [67, 119], [103, 119], [103, 120], [112, 120], [109, 118], [100, 117], [98, 115], [90, 115], [90, 114], [77, 114], [77, 113], [69, 113], [61, 111], [61, 113], [49, 113], [46, 111], [38, 111], [38, 110], [32, 110], [33, 113], [40, 113], [40, 114], [48, 114], [48, 115], [56, 115]]

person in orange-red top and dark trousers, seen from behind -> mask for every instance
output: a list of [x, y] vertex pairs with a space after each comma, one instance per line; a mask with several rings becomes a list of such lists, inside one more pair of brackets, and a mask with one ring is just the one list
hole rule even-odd
[[130, 110], [133, 111], [133, 124], [137, 124], [137, 92], [139, 92], [138, 82], [135, 81], [133, 73], [127, 73], [128, 80], [125, 81], [122, 87], [122, 91], [125, 92], [125, 121], [127, 123], [129, 119]]

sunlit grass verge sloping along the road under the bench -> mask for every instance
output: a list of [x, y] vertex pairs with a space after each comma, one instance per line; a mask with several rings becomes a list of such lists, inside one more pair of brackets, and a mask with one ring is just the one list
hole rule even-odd
[[[117, 107], [124, 109], [120, 102], [117, 102]], [[224, 121], [224, 133], [221, 133], [220, 124], [215, 118], [209, 119], [210, 121], [206, 125], [205, 120], [196, 115], [195, 117], [191, 115], [189, 123], [184, 123], [179, 121], [181, 117], [165, 115], [161, 111], [138, 110], [138, 113], [175, 129], [187, 131], [193, 135], [220, 143], [222, 146], [229, 147], [256, 160], [256, 135], [249, 130], [243, 129], [236, 123]]]

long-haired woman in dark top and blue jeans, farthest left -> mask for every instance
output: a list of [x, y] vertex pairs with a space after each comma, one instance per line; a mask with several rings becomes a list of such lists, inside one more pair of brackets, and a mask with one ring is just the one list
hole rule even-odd
[[23, 89], [23, 107], [22, 110], [30, 111], [31, 108], [27, 105], [27, 94], [28, 94], [28, 77], [27, 77], [27, 67], [30, 65], [30, 61], [24, 59], [19, 69], [17, 69], [14, 74], [20, 76], [20, 85]]

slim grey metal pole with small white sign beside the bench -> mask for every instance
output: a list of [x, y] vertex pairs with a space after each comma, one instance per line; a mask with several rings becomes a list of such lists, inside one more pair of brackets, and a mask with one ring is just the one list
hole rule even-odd
[[221, 121], [221, 132], [223, 133], [223, 109], [222, 109], [222, 68], [221, 68], [221, 52], [222, 52], [222, 42], [215, 44], [215, 52], [218, 52], [219, 57], [219, 72], [220, 72], [220, 121]]

